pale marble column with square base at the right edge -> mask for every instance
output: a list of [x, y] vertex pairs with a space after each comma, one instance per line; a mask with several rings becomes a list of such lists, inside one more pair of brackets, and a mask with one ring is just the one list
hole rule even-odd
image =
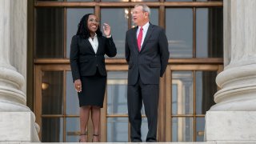
[[[256, 141], [256, 1], [224, 0], [224, 70], [206, 113], [207, 141]], [[214, 131], [215, 130], [215, 131]]]

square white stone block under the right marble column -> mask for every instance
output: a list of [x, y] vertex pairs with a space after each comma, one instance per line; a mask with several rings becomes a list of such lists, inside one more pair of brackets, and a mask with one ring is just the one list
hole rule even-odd
[[207, 111], [205, 139], [217, 143], [256, 143], [256, 111]]

